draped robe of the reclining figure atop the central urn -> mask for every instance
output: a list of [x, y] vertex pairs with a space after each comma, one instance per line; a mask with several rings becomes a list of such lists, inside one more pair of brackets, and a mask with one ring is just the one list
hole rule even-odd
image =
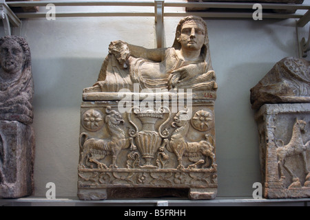
[[[211, 65], [206, 61], [183, 61], [176, 54], [174, 47], [167, 48], [161, 63], [143, 58], [128, 59], [129, 68], [124, 69], [116, 58], [109, 54], [101, 67], [98, 85], [101, 91], [117, 92], [120, 89], [133, 91], [133, 84], [138, 83], [140, 89], [167, 89], [168, 78], [172, 72], [180, 68], [195, 71], [192, 77], [180, 79], [176, 84], [178, 89], [212, 90], [214, 89], [215, 74]], [[194, 67], [193, 67], [194, 65]]]

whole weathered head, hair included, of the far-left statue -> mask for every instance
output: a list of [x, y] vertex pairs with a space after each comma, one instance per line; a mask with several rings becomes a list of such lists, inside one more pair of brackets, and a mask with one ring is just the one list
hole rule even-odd
[[1, 75], [14, 75], [30, 66], [28, 43], [19, 36], [4, 36], [0, 39]]

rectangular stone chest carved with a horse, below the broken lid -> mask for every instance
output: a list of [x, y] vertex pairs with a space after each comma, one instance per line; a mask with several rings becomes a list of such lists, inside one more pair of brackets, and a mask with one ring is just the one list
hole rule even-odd
[[310, 197], [310, 104], [264, 104], [256, 122], [263, 196]]

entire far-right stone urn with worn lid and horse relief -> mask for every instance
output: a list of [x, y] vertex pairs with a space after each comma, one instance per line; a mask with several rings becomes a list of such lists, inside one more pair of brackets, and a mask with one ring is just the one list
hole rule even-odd
[[251, 89], [264, 197], [310, 197], [310, 65], [285, 58]]

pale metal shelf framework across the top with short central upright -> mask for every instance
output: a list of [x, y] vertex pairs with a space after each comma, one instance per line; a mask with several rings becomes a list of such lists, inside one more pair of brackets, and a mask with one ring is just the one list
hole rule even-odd
[[[158, 47], [163, 45], [163, 22], [165, 17], [185, 17], [196, 15], [203, 18], [216, 19], [252, 19], [250, 12], [165, 12], [165, 8], [217, 8], [217, 9], [253, 9], [254, 3], [236, 2], [172, 2], [165, 0], [149, 1], [118, 1], [118, 0], [81, 0], [81, 1], [10, 1], [0, 0], [0, 13], [5, 24], [6, 33], [10, 34], [10, 23], [20, 26], [19, 19], [43, 18], [45, 12], [22, 12], [14, 14], [10, 8], [15, 7], [46, 7], [48, 4], [61, 6], [143, 6], [152, 7], [154, 12], [55, 12], [56, 17], [154, 17], [156, 22], [156, 39]], [[263, 13], [263, 19], [298, 19], [298, 27], [304, 27], [310, 21], [310, 4], [260, 3], [263, 9], [271, 10], [302, 10], [302, 12], [281, 14]], [[254, 11], [253, 11], [254, 12]], [[3, 15], [4, 14], [4, 15]], [[8, 23], [10, 21], [10, 23]]]

